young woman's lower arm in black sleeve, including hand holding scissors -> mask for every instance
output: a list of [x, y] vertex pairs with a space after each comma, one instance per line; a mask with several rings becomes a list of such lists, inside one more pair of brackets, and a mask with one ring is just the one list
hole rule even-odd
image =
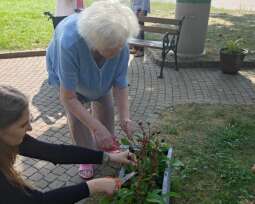
[[28, 187], [24, 189], [11, 184], [0, 171], [1, 204], [72, 204], [93, 194], [112, 195], [120, 186], [118, 178], [97, 178], [73, 186], [41, 192]]

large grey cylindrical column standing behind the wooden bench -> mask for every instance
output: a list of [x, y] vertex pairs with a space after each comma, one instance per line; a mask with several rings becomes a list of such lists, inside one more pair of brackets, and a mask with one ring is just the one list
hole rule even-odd
[[205, 39], [211, 0], [176, 0], [175, 17], [185, 16], [178, 45], [178, 56], [199, 57], [205, 54]]

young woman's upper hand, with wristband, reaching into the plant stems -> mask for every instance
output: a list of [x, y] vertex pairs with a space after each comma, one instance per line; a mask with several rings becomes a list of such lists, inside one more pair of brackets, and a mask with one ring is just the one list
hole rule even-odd
[[137, 160], [135, 154], [125, 151], [120, 153], [105, 153], [110, 157], [110, 161], [119, 163], [119, 164], [131, 164], [136, 165]]

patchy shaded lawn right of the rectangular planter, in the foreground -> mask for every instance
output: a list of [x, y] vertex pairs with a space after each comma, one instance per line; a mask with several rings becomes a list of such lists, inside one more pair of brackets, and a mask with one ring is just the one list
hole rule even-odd
[[255, 200], [255, 106], [178, 105], [163, 114], [174, 147], [177, 204], [248, 204]]

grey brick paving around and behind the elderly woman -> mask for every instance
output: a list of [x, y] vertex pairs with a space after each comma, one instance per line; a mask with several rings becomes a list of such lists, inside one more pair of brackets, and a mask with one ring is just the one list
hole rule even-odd
[[[136, 121], [156, 121], [160, 111], [183, 103], [255, 104], [255, 69], [232, 76], [218, 69], [185, 68], [177, 72], [166, 68], [164, 79], [158, 79], [159, 68], [147, 56], [144, 60], [131, 59], [129, 67], [130, 110]], [[70, 144], [57, 91], [47, 85], [45, 58], [1, 59], [0, 71], [1, 84], [15, 86], [29, 96], [34, 117], [31, 134], [43, 141]], [[116, 129], [121, 133], [118, 126]], [[81, 181], [77, 165], [54, 165], [20, 156], [15, 166], [23, 178], [43, 191]], [[113, 174], [114, 169], [98, 170], [100, 175], [105, 172]]]

